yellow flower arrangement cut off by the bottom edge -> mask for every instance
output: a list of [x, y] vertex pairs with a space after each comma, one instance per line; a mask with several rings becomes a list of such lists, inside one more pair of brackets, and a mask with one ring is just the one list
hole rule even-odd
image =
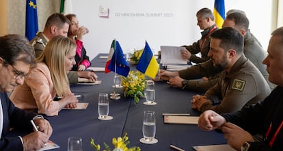
[[[127, 146], [129, 145], [129, 137], [126, 136], [127, 133], [124, 133], [123, 137], [118, 137], [118, 138], [113, 138], [112, 139], [112, 144], [115, 147], [113, 151], [140, 151], [141, 148], [139, 147], [130, 147], [128, 148]], [[100, 145], [94, 143], [94, 139], [90, 138], [90, 145], [94, 148], [96, 151], [100, 151]], [[110, 146], [107, 145], [107, 143], [104, 143], [105, 150], [103, 151], [111, 151]]]

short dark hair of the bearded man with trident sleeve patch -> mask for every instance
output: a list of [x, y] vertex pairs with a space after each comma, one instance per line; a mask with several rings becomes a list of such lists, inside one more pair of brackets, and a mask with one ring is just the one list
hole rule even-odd
[[244, 38], [239, 30], [233, 27], [225, 27], [211, 33], [211, 38], [221, 40], [220, 46], [225, 51], [234, 49], [237, 54], [243, 54]]

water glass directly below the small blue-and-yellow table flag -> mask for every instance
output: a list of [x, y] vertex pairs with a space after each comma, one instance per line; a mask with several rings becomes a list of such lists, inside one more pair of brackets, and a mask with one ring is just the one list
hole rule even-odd
[[144, 105], [156, 105], [157, 102], [154, 102], [155, 100], [155, 90], [154, 90], [154, 81], [148, 80], [146, 81], [146, 102], [144, 102]]

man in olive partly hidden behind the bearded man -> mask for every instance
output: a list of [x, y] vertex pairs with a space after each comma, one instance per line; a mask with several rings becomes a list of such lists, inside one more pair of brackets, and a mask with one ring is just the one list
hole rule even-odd
[[[262, 64], [262, 60], [266, 57], [265, 51], [258, 43], [258, 40], [250, 33], [249, 20], [247, 17], [239, 12], [229, 14], [224, 20], [223, 27], [234, 27], [241, 31], [244, 36], [244, 51], [243, 53], [250, 59], [252, 63], [260, 70], [260, 73], [269, 84], [271, 90], [274, 88], [274, 85], [268, 80], [268, 72], [266, 66]], [[197, 64], [196, 66], [191, 66], [185, 70], [180, 70], [178, 72], [167, 72], [161, 71], [161, 76], [167, 77], [170, 81], [171, 86], [183, 87], [183, 89], [196, 90], [200, 92], [206, 92], [210, 87], [213, 87], [219, 78], [219, 75], [215, 74], [221, 72], [223, 69], [215, 68], [213, 62], [208, 60], [202, 64]], [[215, 77], [214, 77], [215, 76]], [[170, 77], [170, 79], [169, 79]], [[189, 79], [200, 79], [202, 77], [213, 77], [207, 81], [202, 80], [189, 80]], [[186, 80], [185, 80], [186, 79]]]

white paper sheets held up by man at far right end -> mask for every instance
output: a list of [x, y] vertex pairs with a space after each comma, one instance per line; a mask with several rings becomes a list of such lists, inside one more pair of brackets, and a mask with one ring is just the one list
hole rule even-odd
[[187, 59], [180, 55], [180, 46], [160, 46], [161, 64], [187, 64]]

